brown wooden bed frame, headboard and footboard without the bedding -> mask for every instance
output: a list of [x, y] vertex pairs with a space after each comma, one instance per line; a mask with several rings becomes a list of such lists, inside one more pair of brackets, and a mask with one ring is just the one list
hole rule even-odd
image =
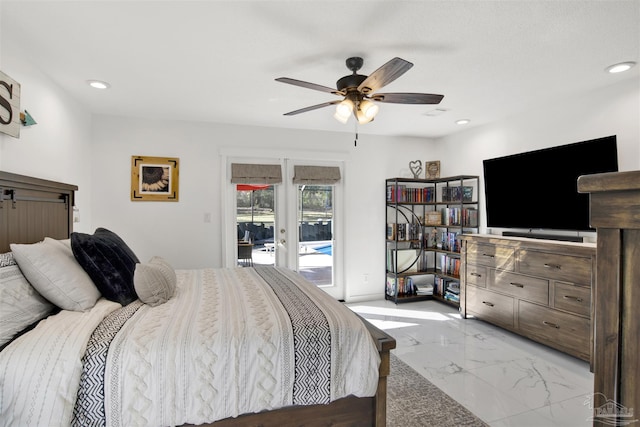
[[[75, 185], [0, 171], [0, 253], [10, 243], [36, 243], [45, 237], [66, 239], [73, 231]], [[387, 376], [393, 337], [362, 319], [380, 353], [374, 397], [346, 397], [328, 405], [291, 406], [206, 424], [236, 426], [377, 426], [386, 425]]]

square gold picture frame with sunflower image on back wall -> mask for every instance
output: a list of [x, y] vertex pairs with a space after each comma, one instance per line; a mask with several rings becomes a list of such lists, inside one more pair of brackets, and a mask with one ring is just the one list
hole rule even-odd
[[177, 157], [131, 156], [131, 201], [179, 201]]

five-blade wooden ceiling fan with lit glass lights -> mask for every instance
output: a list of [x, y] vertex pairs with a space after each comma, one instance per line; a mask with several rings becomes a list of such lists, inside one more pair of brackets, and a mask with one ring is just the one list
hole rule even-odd
[[358, 74], [357, 71], [362, 68], [363, 59], [360, 57], [348, 58], [346, 61], [347, 68], [353, 72], [348, 76], [344, 76], [336, 82], [337, 89], [327, 86], [309, 83], [302, 80], [290, 79], [288, 77], [279, 77], [278, 82], [288, 83], [295, 86], [305, 87], [307, 89], [319, 90], [321, 92], [332, 93], [334, 95], [344, 97], [342, 100], [324, 102], [322, 104], [312, 105], [310, 107], [301, 108], [299, 110], [285, 113], [285, 116], [294, 116], [307, 111], [317, 110], [318, 108], [336, 105], [334, 117], [346, 123], [353, 113], [358, 123], [369, 123], [378, 113], [378, 106], [375, 102], [388, 102], [393, 104], [439, 104], [444, 95], [435, 95], [430, 93], [377, 93], [383, 86], [388, 85], [404, 73], [406, 73], [413, 64], [401, 58], [393, 58], [391, 61], [378, 68], [369, 76]]

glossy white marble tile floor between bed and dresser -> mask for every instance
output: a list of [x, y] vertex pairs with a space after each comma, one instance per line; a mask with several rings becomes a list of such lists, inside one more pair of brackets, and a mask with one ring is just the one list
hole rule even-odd
[[590, 426], [589, 364], [438, 301], [347, 304], [393, 353], [492, 427]]

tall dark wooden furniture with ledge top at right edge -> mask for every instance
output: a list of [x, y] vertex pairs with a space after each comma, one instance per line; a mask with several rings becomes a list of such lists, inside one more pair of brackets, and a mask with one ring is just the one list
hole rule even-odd
[[594, 425], [626, 425], [640, 415], [640, 171], [582, 176], [578, 191], [598, 234], [593, 405], [613, 411]]

